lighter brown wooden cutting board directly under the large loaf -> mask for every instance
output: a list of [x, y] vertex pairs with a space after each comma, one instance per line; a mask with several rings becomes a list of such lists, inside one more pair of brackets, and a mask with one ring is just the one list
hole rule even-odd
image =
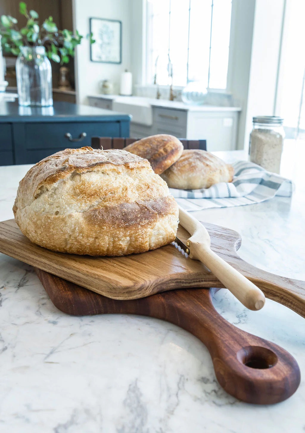
[[[249, 278], [265, 296], [305, 317], [305, 282], [270, 274], [242, 260], [240, 235], [204, 224], [211, 248]], [[189, 235], [179, 226], [178, 237]], [[222, 283], [199, 261], [186, 259], [173, 245], [124, 257], [91, 257], [52, 252], [29, 241], [14, 220], [0, 222], [0, 252], [84, 288], [119, 300], [150, 296], [177, 288], [222, 288]]]

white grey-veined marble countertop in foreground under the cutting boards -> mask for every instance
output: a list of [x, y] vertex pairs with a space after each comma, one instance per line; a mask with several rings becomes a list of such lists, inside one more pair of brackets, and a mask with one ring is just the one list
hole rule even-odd
[[[240, 152], [220, 155], [241, 157]], [[283, 168], [296, 182], [292, 198], [195, 215], [241, 233], [240, 255], [248, 262], [305, 279], [303, 161], [295, 158]], [[0, 220], [13, 217], [18, 182], [28, 169], [0, 167]], [[288, 350], [305, 376], [302, 317], [268, 299], [262, 310], [246, 310], [224, 289], [214, 303], [229, 322]], [[191, 334], [146, 317], [68, 316], [54, 307], [31, 266], [5, 255], [0, 255], [0, 362], [3, 432], [305, 430], [304, 379], [280, 404], [241, 403], [219, 386], [209, 352]]]

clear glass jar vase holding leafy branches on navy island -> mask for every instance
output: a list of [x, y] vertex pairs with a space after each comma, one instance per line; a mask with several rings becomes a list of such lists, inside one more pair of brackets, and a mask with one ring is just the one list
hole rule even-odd
[[16, 60], [16, 79], [20, 105], [53, 105], [51, 63], [44, 47], [21, 48]]

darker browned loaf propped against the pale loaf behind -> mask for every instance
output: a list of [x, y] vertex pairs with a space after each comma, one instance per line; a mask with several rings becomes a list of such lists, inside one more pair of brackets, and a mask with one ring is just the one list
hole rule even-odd
[[153, 171], [161, 174], [180, 158], [183, 144], [174, 136], [157, 134], [135, 141], [124, 150], [148, 159]]

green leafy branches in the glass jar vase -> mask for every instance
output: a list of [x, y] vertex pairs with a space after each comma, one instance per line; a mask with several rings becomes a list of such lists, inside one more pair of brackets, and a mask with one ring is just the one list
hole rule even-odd
[[[19, 55], [23, 47], [44, 46], [48, 58], [56, 63], [68, 63], [69, 56], [74, 56], [74, 48], [79, 45], [83, 36], [76, 30], [73, 34], [70, 30], [59, 30], [49, 16], [42, 25], [38, 22], [38, 13], [35, 10], [27, 10], [24, 2], [19, 3], [19, 12], [25, 16], [27, 23], [22, 29], [17, 27], [17, 19], [10, 15], [2, 15], [0, 19], [1, 44], [4, 52]], [[94, 43], [92, 33], [88, 35], [90, 43]]]

